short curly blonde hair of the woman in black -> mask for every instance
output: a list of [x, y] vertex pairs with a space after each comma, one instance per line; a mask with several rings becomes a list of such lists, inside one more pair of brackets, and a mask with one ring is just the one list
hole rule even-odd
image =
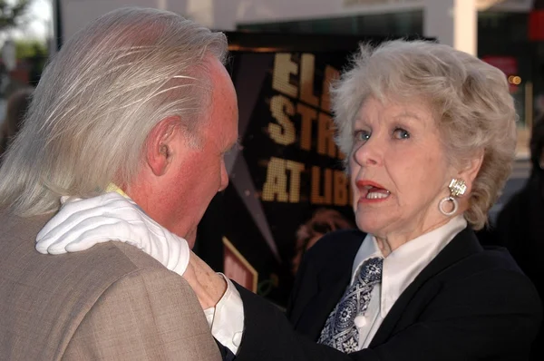
[[355, 116], [368, 96], [428, 99], [452, 164], [483, 151], [464, 217], [473, 229], [485, 225], [516, 148], [517, 115], [504, 73], [447, 45], [395, 40], [361, 45], [331, 93], [336, 143], [345, 154], [352, 151]]

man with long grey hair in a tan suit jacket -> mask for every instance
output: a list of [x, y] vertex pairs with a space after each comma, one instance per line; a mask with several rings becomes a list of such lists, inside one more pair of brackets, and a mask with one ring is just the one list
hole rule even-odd
[[[0, 171], [0, 358], [221, 358], [209, 332], [220, 320], [201, 308], [215, 302], [199, 304], [180, 274], [199, 278], [189, 247], [228, 185], [223, 157], [238, 138], [226, 52], [224, 34], [124, 8], [86, 26], [46, 67]], [[135, 223], [156, 230], [148, 246], [176, 273], [123, 243], [35, 251], [62, 203], [77, 208], [106, 190], [138, 204]], [[165, 238], [170, 246], [157, 248]], [[209, 299], [218, 299], [226, 281], [211, 277], [221, 294]]]

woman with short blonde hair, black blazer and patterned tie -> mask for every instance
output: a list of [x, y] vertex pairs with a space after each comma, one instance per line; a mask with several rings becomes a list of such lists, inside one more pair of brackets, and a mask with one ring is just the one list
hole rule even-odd
[[[504, 74], [446, 45], [393, 41], [362, 46], [333, 95], [360, 230], [329, 233], [307, 252], [288, 320], [228, 282], [211, 311], [214, 336], [237, 360], [527, 359], [539, 295], [508, 251], [482, 249], [473, 232], [514, 157]], [[44, 231], [57, 252], [62, 233]], [[207, 276], [217, 277], [185, 278], [206, 286]], [[218, 333], [228, 317], [243, 327]]]

